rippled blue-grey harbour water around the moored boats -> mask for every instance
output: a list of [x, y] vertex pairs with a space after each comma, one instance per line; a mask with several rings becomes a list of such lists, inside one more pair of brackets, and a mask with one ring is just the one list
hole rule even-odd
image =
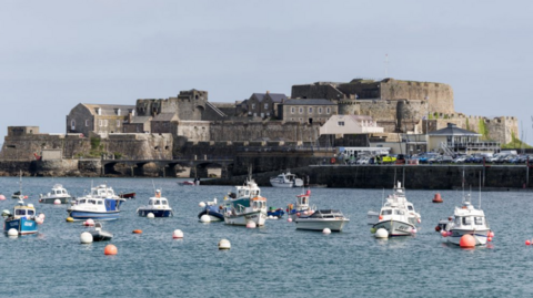
[[[23, 178], [38, 213], [47, 215], [39, 235], [0, 236], [3, 274], [0, 297], [456, 297], [531, 296], [533, 247], [531, 193], [483, 193], [494, 242], [487, 247], [461, 249], [444, 244], [434, 227], [453, 213], [461, 193], [440, 192], [443, 204], [433, 204], [434, 191], [409, 191], [422, 216], [414, 237], [375, 239], [366, 225], [366, 212], [379, 209], [381, 189], [312, 189], [311, 203], [339, 208], [351, 223], [342, 233], [295, 230], [282, 220], [247, 229], [223, 223], [201, 224], [198, 206], [222, 199], [231, 186], [179, 186], [175, 179], [155, 179], [174, 208], [172, 218], [138, 217], [135, 209], [153, 194], [148, 178], [108, 178], [117, 193], [137, 192], [124, 203], [121, 218], [104, 223], [114, 234], [117, 256], [104, 256], [108, 243], [80, 244], [81, 223], [67, 223], [66, 206], [38, 203], [61, 183], [72, 194], [89, 189], [90, 178]], [[94, 184], [104, 179], [94, 179]], [[0, 178], [8, 199], [18, 191], [18, 178]], [[285, 207], [300, 189], [263, 187], [269, 206]], [[391, 189], [385, 189], [385, 195]], [[477, 205], [477, 193], [473, 193]], [[172, 239], [181, 229], [183, 239]], [[142, 229], [141, 235], [132, 234]], [[217, 244], [227, 238], [230, 250]]]

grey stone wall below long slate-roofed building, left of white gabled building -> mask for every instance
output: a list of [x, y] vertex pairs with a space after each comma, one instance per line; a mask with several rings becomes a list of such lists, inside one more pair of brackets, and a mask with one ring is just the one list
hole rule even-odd
[[211, 141], [286, 141], [314, 142], [320, 135], [320, 124], [299, 122], [213, 122], [210, 126]]

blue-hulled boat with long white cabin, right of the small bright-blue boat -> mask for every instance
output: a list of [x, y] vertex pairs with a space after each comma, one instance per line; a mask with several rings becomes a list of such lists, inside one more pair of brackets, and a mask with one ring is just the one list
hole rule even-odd
[[67, 209], [69, 216], [74, 220], [113, 220], [119, 219], [120, 205], [124, 198], [114, 194], [107, 185], [99, 185], [91, 188], [91, 193], [72, 202]]

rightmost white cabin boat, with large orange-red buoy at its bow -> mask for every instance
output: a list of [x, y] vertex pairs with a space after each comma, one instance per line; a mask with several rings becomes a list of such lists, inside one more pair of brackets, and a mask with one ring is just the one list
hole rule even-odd
[[456, 245], [466, 234], [474, 237], [475, 245], [485, 245], [491, 233], [485, 213], [472, 205], [470, 195], [463, 197], [461, 207], [455, 207], [453, 222], [447, 223], [445, 230], [449, 232], [447, 242]]

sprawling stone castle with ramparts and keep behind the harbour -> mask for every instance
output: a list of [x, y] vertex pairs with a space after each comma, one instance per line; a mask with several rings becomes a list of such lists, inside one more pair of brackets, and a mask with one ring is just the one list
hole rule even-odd
[[[323, 140], [320, 126], [335, 114], [371, 116], [384, 127], [381, 138], [425, 134], [447, 123], [502, 144], [519, 135], [516, 117], [487, 119], [454, 111], [453, 90], [447, 84], [356, 79], [293, 85], [290, 96], [253, 93], [234, 103], [210, 102], [208, 92], [199, 90], [169, 99], [139, 99], [134, 105], [80, 103], [67, 115], [64, 134], [9, 127], [0, 158], [31, 160], [56, 150], [63, 158], [105, 154], [158, 160], [188, 156], [199, 144], [318, 145]], [[339, 137], [343, 138], [334, 136]]]

